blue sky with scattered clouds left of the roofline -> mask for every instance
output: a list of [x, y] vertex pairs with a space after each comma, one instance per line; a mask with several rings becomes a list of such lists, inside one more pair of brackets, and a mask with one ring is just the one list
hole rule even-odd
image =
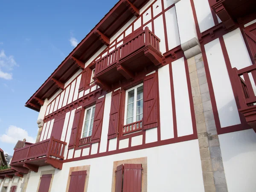
[[38, 112], [24, 107], [118, 0], [1, 1], [0, 148], [35, 140]]

